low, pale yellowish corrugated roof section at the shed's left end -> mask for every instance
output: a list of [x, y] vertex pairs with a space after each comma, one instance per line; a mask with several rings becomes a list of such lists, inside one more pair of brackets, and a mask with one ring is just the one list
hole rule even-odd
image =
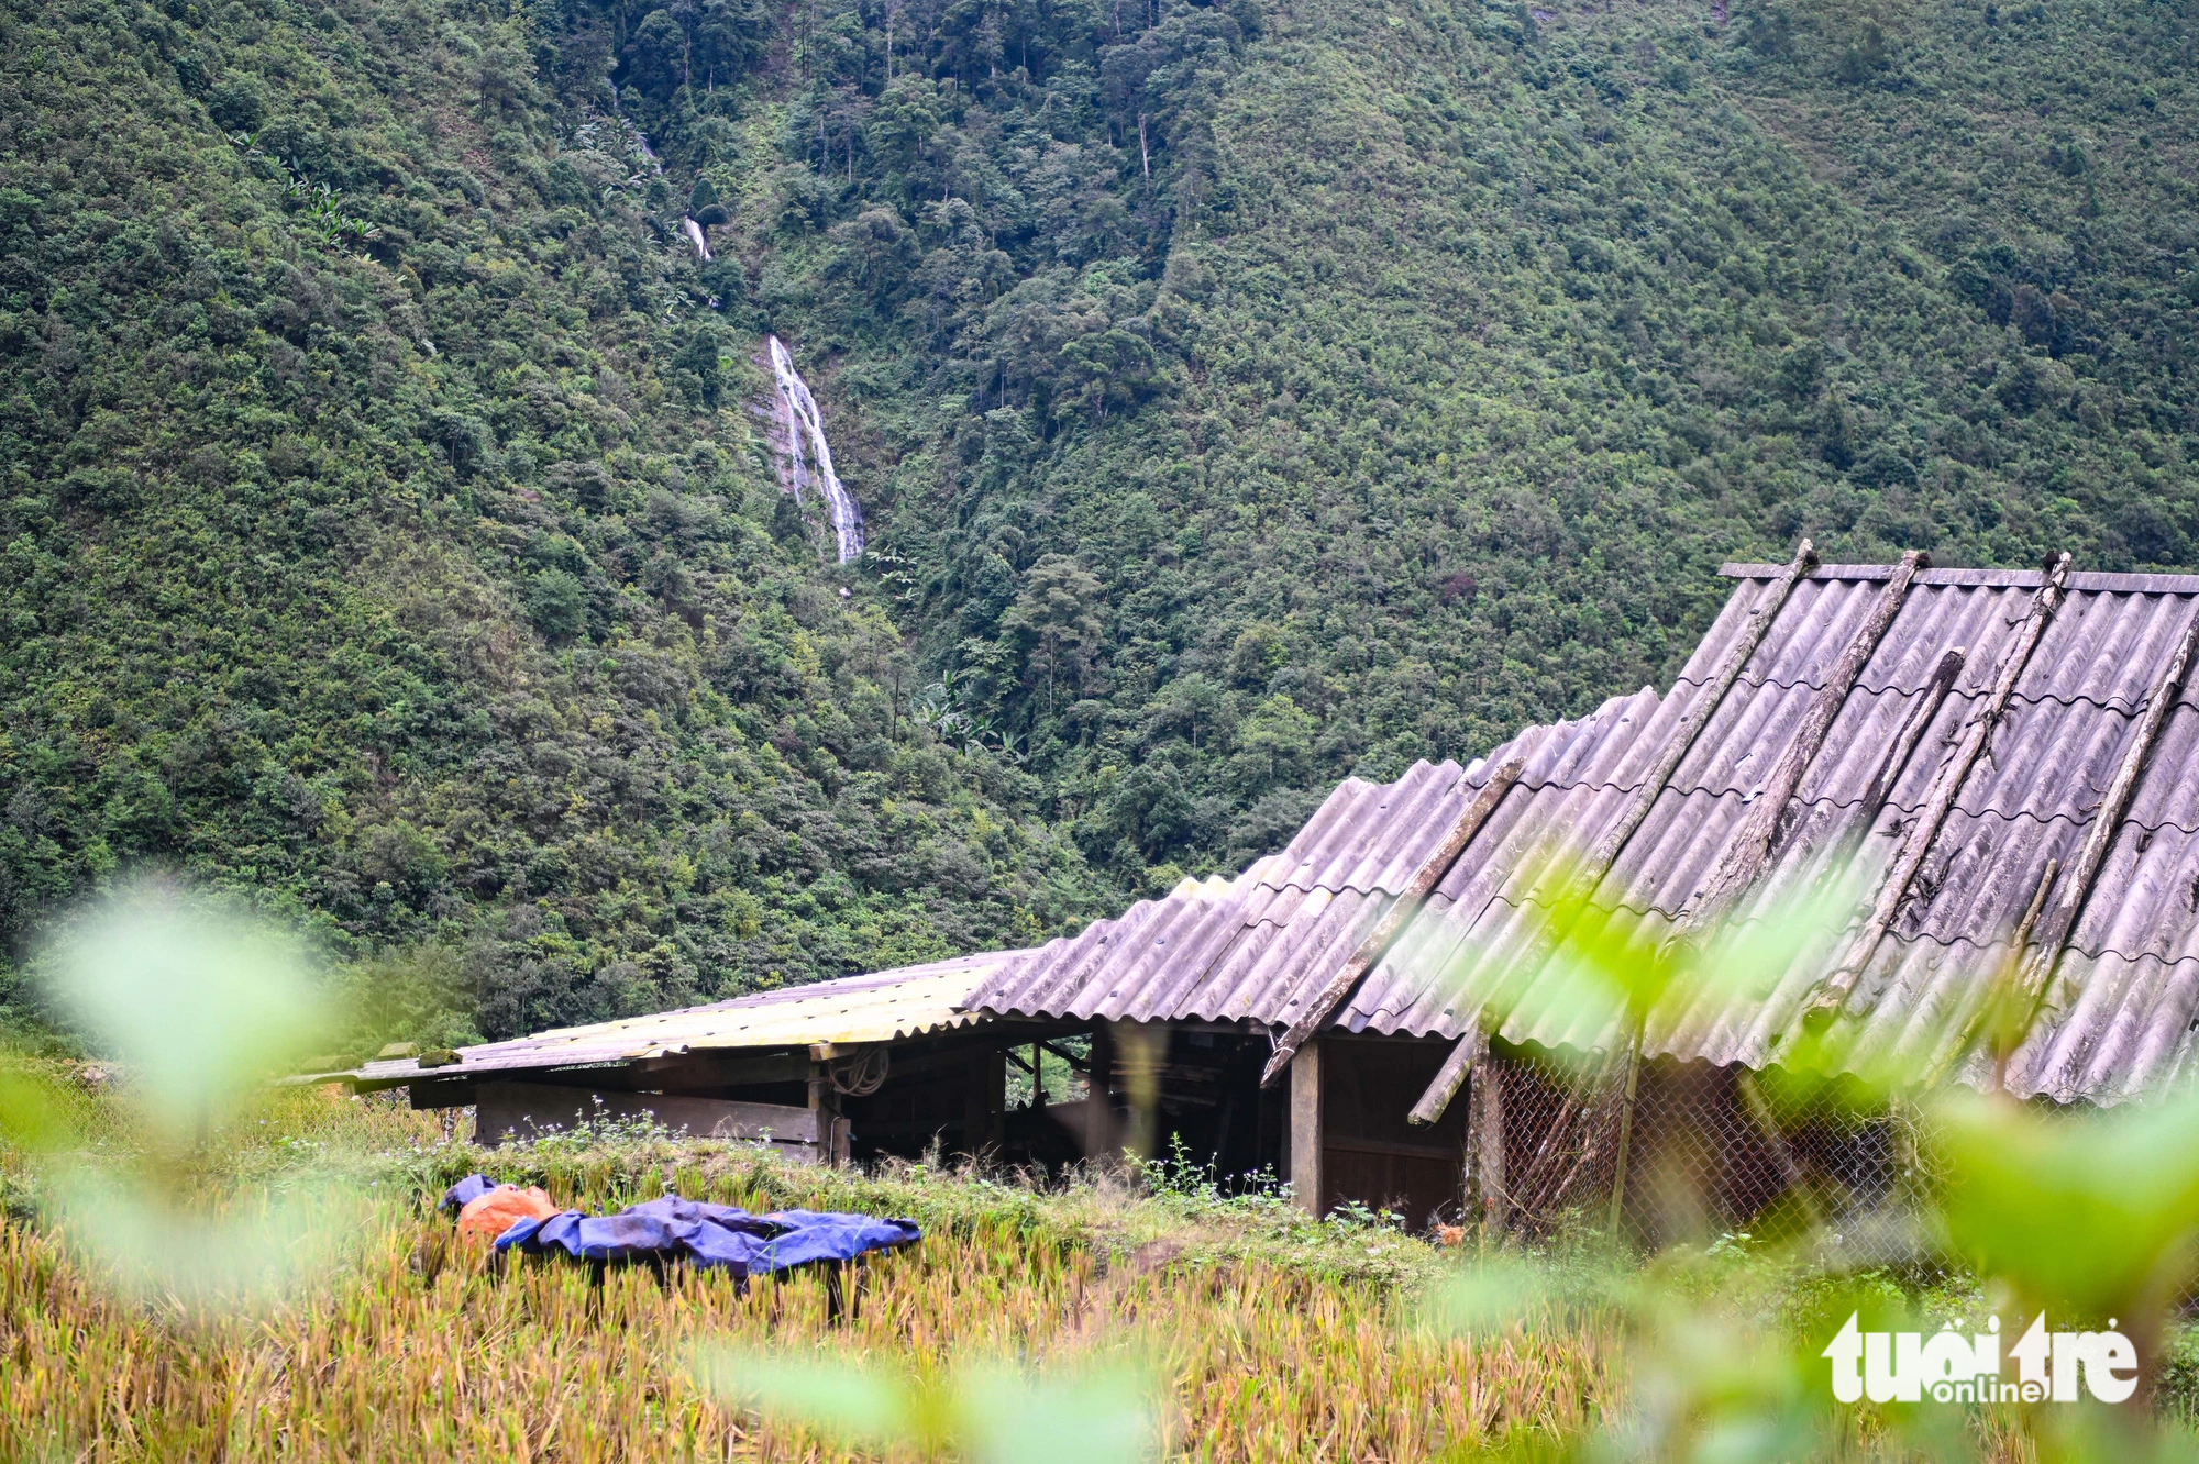
[[675, 1053], [789, 1049], [818, 1042], [860, 1044], [968, 1027], [983, 1016], [963, 1007], [970, 989], [1025, 952], [987, 952], [844, 976], [783, 991], [761, 991], [708, 1007], [561, 1027], [457, 1049], [460, 1062], [422, 1068], [416, 1060], [369, 1062], [350, 1077], [387, 1086], [416, 1077], [471, 1077], [528, 1068], [567, 1068], [664, 1057]]

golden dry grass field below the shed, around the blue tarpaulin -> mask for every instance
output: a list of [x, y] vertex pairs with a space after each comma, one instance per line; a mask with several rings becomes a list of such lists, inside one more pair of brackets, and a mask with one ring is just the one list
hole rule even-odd
[[[11, 1222], [0, 1457], [844, 1457], [710, 1400], [690, 1358], [712, 1341], [917, 1378], [1130, 1361], [1159, 1380], [1168, 1451], [1187, 1460], [1410, 1460], [1522, 1424], [1570, 1435], [1605, 1389], [1612, 1339], [1594, 1326], [1471, 1341], [1423, 1326], [1416, 1301], [1447, 1268], [1434, 1246], [1306, 1224], [1273, 1198], [829, 1174], [649, 1136], [490, 1154], [402, 1108], [330, 1095], [259, 1119], [224, 1154], [244, 1194], [325, 1180], [356, 1196], [332, 1268], [262, 1308], [123, 1299], [64, 1233]], [[844, 1323], [827, 1319], [818, 1275], [748, 1295], [642, 1268], [596, 1290], [585, 1268], [539, 1260], [497, 1275], [431, 1209], [431, 1191], [475, 1165], [567, 1205], [671, 1185], [759, 1211], [906, 1213], [926, 1240], [864, 1268]]]

